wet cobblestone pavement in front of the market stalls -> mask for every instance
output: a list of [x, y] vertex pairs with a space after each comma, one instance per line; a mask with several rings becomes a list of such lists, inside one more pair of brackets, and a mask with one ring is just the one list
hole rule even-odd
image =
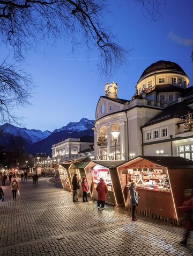
[[[18, 179], [19, 180], [19, 179]], [[0, 202], [0, 255], [193, 255], [181, 246], [182, 227], [96, 202], [72, 203], [72, 194], [41, 177], [21, 183], [12, 200], [9, 181]]]

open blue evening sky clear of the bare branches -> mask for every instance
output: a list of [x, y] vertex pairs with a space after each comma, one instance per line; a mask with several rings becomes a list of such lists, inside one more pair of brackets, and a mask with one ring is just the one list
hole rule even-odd
[[16, 110], [24, 117], [27, 129], [53, 131], [81, 118], [95, 119], [99, 97], [104, 96], [105, 83], [118, 83], [118, 98], [130, 99], [144, 69], [158, 60], [178, 63], [192, 84], [191, 51], [192, 0], [168, 0], [157, 21], [144, 17], [142, 6], [132, 0], [108, 1], [111, 13], [105, 21], [119, 44], [127, 46], [128, 67], [101, 79], [97, 70], [98, 52], [81, 46], [72, 53], [70, 42], [57, 41], [55, 46], [39, 45], [29, 52], [26, 72], [38, 85], [31, 106]]

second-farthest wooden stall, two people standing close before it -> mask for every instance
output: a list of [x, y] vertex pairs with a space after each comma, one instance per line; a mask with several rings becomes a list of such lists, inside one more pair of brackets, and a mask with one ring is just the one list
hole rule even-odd
[[[77, 173], [78, 175], [78, 180], [79, 180], [79, 184], [80, 184], [80, 189], [79, 189], [79, 196], [83, 196], [83, 190], [81, 189], [81, 181], [83, 180], [83, 176], [86, 177], [86, 173], [85, 173], [85, 167], [88, 165], [88, 162], [73, 162], [71, 163], [70, 167], [69, 167], [69, 182], [70, 182], [70, 187], [71, 190], [73, 190], [72, 187], [72, 178], [75, 175], [75, 173]], [[88, 184], [89, 187], [89, 184]], [[90, 187], [89, 187], [90, 189]], [[90, 196], [90, 193], [87, 194], [87, 196]]]

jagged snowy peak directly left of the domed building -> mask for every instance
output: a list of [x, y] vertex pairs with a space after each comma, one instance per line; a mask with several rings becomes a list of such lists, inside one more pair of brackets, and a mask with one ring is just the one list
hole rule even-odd
[[85, 131], [87, 129], [92, 129], [94, 125], [94, 120], [88, 120], [87, 118], [80, 119], [79, 122], [70, 122], [66, 126], [61, 127], [60, 129], [54, 130], [51, 134], [61, 131], [68, 131], [69, 133], [73, 131]]

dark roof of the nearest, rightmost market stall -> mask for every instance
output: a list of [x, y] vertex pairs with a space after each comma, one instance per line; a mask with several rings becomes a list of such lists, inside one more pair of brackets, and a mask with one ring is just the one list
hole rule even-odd
[[157, 163], [158, 165], [168, 167], [169, 169], [193, 168], [193, 161], [182, 157], [138, 155], [138, 157], [133, 158], [130, 161], [137, 160], [137, 158], [149, 160], [151, 162]]

